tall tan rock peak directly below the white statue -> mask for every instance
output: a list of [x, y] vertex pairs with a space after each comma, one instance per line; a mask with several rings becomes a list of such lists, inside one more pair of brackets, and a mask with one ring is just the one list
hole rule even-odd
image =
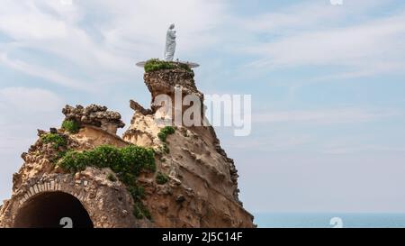
[[[145, 73], [145, 83], [153, 99], [167, 95], [175, 100], [175, 87], [182, 87], [183, 96], [196, 95], [193, 73], [184, 69], [167, 69]], [[137, 111], [124, 141], [159, 150], [167, 145], [169, 152], [160, 153], [158, 169], [169, 177], [160, 186], [149, 178], [141, 178], [148, 193], [146, 204], [157, 226], [173, 227], [252, 227], [253, 216], [238, 199], [238, 170], [220, 147], [211, 126], [176, 126], [175, 133], [162, 142], [157, 137], [164, 127], [154, 114]]]

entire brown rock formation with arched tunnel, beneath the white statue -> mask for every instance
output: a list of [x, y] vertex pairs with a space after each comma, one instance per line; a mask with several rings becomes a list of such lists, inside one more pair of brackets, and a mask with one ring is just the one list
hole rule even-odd
[[[150, 71], [144, 80], [152, 102], [160, 94], [173, 97], [175, 87], [203, 98], [190, 69]], [[162, 137], [166, 127], [155, 120], [158, 105], [145, 109], [131, 100], [130, 107], [135, 112], [122, 138], [116, 135], [124, 126], [121, 115], [98, 105], [63, 109], [77, 132], [39, 130], [39, 140], [23, 153], [23, 167], [14, 174], [13, 196], [1, 207], [0, 227], [61, 227], [62, 217], [71, 218], [74, 227], [255, 226], [238, 200], [238, 171], [211, 126], [175, 126]], [[142, 170], [136, 179], [139, 197], [110, 167], [93, 163], [72, 174], [60, 165], [72, 150], [131, 144], [155, 153], [156, 171]], [[134, 207], [147, 215], [137, 216]]]

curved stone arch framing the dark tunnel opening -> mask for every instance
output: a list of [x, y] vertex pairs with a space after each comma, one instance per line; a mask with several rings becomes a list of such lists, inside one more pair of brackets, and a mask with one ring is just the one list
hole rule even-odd
[[[72, 205], [83, 206], [94, 228], [140, 226], [131, 213], [133, 201], [126, 187], [119, 181], [108, 181], [104, 178], [103, 170], [89, 168], [80, 176], [49, 174], [30, 178], [21, 187], [16, 188], [12, 198], [4, 203], [4, 207], [0, 211], [0, 227], [30, 227], [31, 225], [24, 223], [21, 218], [23, 216], [21, 213], [26, 213], [23, 209], [27, 211], [41, 210], [40, 200], [38, 206], [32, 205], [30, 208], [31, 202], [39, 198], [45, 199], [46, 195], [50, 201], [55, 202], [54, 198], [56, 197], [50, 195], [60, 193], [67, 194], [69, 198], [65, 197], [65, 199]], [[77, 203], [73, 203], [72, 200], [77, 201]], [[59, 205], [57, 202], [54, 203], [55, 207]], [[53, 213], [56, 212], [58, 211], [53, 211]], [[31, 219], [33, 220], [34, 217]], [[40, 224], [39, 226], [49, 227], [48, 224]]]

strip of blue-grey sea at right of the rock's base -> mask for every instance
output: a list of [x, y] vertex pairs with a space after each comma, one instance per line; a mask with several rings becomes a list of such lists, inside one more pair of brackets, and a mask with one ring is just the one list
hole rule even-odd
[[259, 228], [405, 228], [405, 214], [254, 214]]

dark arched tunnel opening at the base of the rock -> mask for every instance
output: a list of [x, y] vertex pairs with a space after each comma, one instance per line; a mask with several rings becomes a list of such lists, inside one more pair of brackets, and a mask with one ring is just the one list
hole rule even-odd
[[93, 228], [85, 207], [72, 195], [48, 192], [32, 197], [15, 217], [18, 228]]

